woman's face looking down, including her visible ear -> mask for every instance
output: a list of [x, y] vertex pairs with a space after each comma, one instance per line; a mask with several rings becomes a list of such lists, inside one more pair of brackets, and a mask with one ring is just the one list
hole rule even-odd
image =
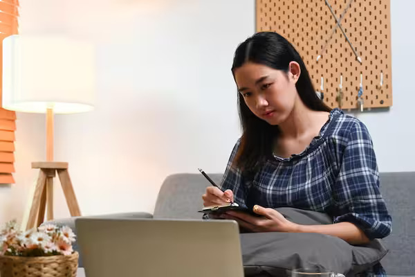
[[255, 116], [279, 125], [291, 114], [297, 100], [295, 82], [299, 65], [291, 62], [288, 73], [262, 64], [246, 62], [234, 70], [239, 93]]

